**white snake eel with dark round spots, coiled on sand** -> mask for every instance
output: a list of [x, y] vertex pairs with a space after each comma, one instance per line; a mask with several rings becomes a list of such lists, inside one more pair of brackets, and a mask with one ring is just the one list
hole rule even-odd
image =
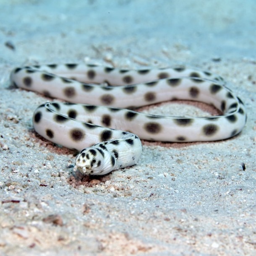
[[[34, 129], [56, 144], [81, 151], [74, 169], [83, 174], [104, 175], [136, 164], [142, 152], [140, 138], [216, 141], [235, 136], [246, 123], [243, 102], [222, 77], [208, 71], [52, 64], [16, 68], [10, 80], [20, 88], [67, 101], [37, 107]], [[206, 102], [223, 114], [191, 118], [132, 110], [173, 99]]]

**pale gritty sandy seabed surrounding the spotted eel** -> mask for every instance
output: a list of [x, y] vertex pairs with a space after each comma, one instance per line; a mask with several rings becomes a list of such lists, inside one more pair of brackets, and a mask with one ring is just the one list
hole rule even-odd
[[[256, 255], [254, 0], [0, 0], [0, 10], [0, 255]], [[73, 151], [33, 130], [49, 99], [10, 88], [9, 74], [84, 60], [208, 69], [248, 122], [225, 141], [144, 142], [138, 165], [83, 178], [68, 168]]]

